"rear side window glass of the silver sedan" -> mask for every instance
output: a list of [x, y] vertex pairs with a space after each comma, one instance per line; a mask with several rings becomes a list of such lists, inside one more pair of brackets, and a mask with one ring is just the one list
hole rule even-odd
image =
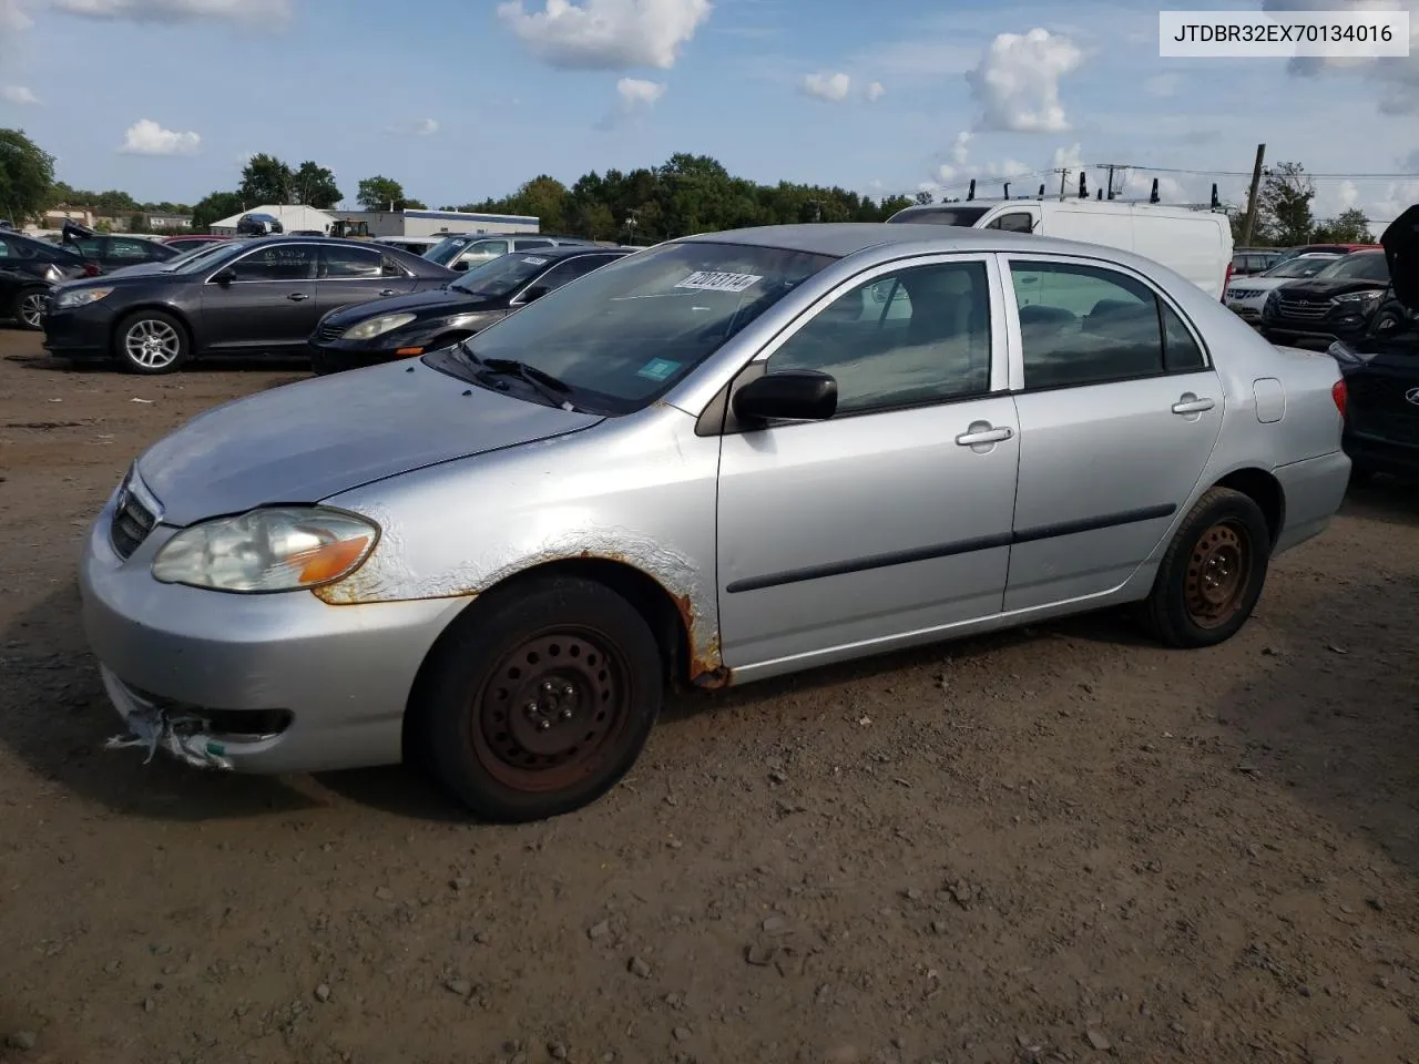
[[[1010, 267], [1020, 314], [1025, 386], [1064, 387], [1164, 372], [1164, 329], [1152, 289], [1131, 277], [1066, 262]], [[1200, 369], [1202, 352], [1169, 315], [1176, 366]]]

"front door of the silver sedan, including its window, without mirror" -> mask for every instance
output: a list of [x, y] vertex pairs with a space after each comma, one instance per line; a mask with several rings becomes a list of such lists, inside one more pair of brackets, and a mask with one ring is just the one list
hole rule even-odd
[[989, 255], [847, 281], [739, 375], [837, 380], [826, 421], [727, 427], [718, 572], [731, 668], [1000, 611], [1019, 453]]

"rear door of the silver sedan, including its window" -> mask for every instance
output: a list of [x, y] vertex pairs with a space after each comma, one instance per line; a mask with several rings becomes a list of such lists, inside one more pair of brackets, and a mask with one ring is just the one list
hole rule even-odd
[[1139, 275], [1002, 255], [1020, 420], [1005, 609], [1103, 594], [1168, 533], [1222, 428], [1199, 335]]

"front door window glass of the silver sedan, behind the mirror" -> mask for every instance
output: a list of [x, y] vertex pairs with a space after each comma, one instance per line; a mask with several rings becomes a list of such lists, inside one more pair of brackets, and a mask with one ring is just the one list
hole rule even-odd
[[877, 278], [834, 299], [768, 360], [837, 380], [837, 413], [932, 403], [990, 390], [990, 289], [983, 262]]

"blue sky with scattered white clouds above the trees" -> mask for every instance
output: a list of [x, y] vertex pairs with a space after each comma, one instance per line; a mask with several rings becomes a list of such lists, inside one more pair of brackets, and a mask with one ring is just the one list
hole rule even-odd
[[1128, 194], [1243, 203], [1259, 142], [1337, 174], [1318, 217], [1419, 201], [1419, 0], [1169, 6], [1261, 4], [1401, 7], [1413, 51], [1159, 58], [1158, 4], [1112, 0], [0, 0], [0, 126], [143, 201], [234, 189], [255, 152], [430, 206], [690, 152], [871, 196], [1121, 163], [1168, 170]]

